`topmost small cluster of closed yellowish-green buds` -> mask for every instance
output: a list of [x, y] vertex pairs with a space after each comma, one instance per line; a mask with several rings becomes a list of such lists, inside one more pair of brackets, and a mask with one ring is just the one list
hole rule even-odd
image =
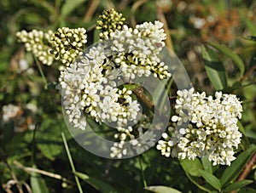
[[119, 14], [114, 9], [103, 11], [102, 15], [97, 20], [96, 29], [101, 30], [100, 37], [102, 39], [108, 39], [109, 34], [115, 30], [121, 30], [124, 26], [125, 18], [122, 14]]

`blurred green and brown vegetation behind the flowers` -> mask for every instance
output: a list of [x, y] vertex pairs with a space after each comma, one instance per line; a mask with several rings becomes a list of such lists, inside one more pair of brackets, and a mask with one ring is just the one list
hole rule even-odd
[[[197, 90], [212, 94], [222, 89], [237, 94], [244, 101], [246, 111], [240, 127], [245, 137], [244, 149], [241, 149], [255, 143], [255, 1], [1, 0], [0, 109], [9, 104], [19, 109], [9, 122], [1, 119], [0, 192], [3, 189], [18, 192], [11, 179], [23, 183], [25, 192], [26, 185], [32, 186], [32, 190], [37, 190], [35, 192], [78, 191], [60, 128], [64, 128], [77, 171], [87, 174], [81, 180], [85, 192], [142, 192], [142, 167], [148, 185], [166, 185], [182, 192], [204, 192], [191, 183], [177, 159], [166, 159], [154, 149], [140, 156], [142, 162], [138, 157], [108, 160], [82, 149], [72, 139], [61, 118], [61, 95], [55, 89], [60, 73], [57, 65], [41, 66], [49, 82], [45, 89], [32, 54], [26, 53], [23, 45], [17, 43], [17, 31], [55, 31], [58, 27], [67, 26], [84, 27], [88, 32], [87, 44], [90, 45], [97, 41], [95, 26], [98, 15], [104, 9], [112, 8], [124, 14], [130, 26], [143, 21], [164, 22], [169, 35], [167, 45], [182, 60]], [[211, 43], [216, 44], [211, 46]], [[224, 52], [224, 49], [216, 50], [214, 45], [219, 44], [239, 55], [245, 69], [242, 74], [239, 65], [234, 65], [237, 62], [234, 55]], [[227, 83], [223, 88], [214, 85], [214, 80], [209, 77], [201, 54], [202, 45], [213, 50], [224, 65]], [[38, 167], [49, 175], [55, 173], [61, 177], [39, 175], [26, 167]], [[220, 176], [221, 172], [216, 175]], [[248, 179], [255, 182], [255, 176], [254, 169]], [[251, 184], [247, 190], [255, 192], [255, 188], [255, 184]]]

